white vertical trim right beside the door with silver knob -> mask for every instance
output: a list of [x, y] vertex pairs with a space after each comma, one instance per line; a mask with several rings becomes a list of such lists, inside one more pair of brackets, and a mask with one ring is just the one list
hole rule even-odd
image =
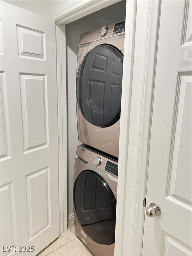
[[145, 208], [143, 207], [142, 203], [144, 197], [146, 197], [147, 190], [147, 175], [153, 110], [153, 95], [155, 86], [160, 7], [160, 1], [148, 2], [146, 15], [146, 38], [144, 47], [145, 55], [143, 62], [141, 94], [142, 104], [139, 125], [140, 139], [137, 156], [134, 202], [134, 212], [136, 213], [136, 215], [134, 218], [133, 229], [133, 255], [142, 255], [143, 228], [145, 217]]

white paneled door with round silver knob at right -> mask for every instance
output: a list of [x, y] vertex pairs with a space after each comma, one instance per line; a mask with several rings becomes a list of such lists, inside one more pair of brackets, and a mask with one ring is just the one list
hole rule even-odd
[[191, 255], [191, 4], [161, 2], [143, 255]]

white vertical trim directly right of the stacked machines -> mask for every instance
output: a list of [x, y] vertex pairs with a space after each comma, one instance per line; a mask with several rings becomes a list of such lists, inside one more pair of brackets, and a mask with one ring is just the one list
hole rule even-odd
[[[115, 255], [123, 255], [125, 198], [127, 180], [127, 155], [129, 144], [129, 122], [131, 109], [131, 91], [133, 79], [134, 42], [137, 1], [127, 1], [125, 18], [125, 47], [123, 63], [123, 82], [121, 97], [121, 123], [119, 140], [119, 164], [117, 186], [117, 210], [115, 232]], [[123, 107], [122, 107], [123, 106]], [[117, 228], [118, 227], [118, 228]]]

